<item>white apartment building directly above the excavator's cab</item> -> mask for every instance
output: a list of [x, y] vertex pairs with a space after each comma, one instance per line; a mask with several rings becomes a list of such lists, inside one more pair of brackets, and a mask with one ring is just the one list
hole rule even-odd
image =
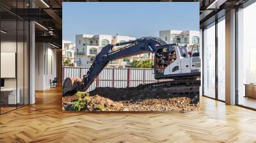
[[163, 30], [159, 31], [159, 37], [166, 43], [187, 44], [191, 50], [199, 45], [200, 31]]

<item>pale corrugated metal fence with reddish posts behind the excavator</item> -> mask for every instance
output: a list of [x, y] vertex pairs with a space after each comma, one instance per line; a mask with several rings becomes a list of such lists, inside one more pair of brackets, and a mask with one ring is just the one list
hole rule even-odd
[[[63, 67], [62, 81], [67, 77], [83, 78], [88, 70], [88, 67]], [[136, 87], [159, 81], [163, 80], [154, 79], [152, 68], [104, 68], [87, 91], [92, 91], [95, 87]]]

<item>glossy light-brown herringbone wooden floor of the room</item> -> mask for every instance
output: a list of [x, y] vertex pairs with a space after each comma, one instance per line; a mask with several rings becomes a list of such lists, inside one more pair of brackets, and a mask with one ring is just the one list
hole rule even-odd
[[200, 99], [200, 112], [62, 112], [61, 91], [0, 116], [0, 142], [256, 142], [256, 112]]

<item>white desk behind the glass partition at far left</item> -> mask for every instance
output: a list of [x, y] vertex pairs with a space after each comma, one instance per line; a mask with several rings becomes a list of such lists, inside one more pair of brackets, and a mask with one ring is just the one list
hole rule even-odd
[[18, 94], [16, 98], [16, 88], [1, 89], [1, 102], [4, 104], [20, 103], [20, 89], [17, 89]]

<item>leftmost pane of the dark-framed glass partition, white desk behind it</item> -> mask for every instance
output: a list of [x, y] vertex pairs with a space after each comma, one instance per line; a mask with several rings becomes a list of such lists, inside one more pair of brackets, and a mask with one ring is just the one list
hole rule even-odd
[[[17, 21], [1, 21], [1, 113], [17, 108]], [[4, 32], [3, 32], [4, 31]]]

